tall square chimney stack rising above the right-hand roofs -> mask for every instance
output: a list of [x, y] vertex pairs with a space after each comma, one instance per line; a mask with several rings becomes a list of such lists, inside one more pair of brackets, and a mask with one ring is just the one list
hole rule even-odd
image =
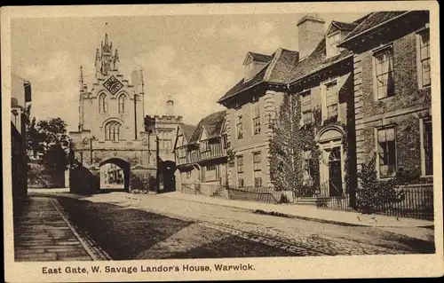
[[324, 37], [324, 24], [317, 14], [307, 14], [297, 21], [299, 59], [308, 56]]

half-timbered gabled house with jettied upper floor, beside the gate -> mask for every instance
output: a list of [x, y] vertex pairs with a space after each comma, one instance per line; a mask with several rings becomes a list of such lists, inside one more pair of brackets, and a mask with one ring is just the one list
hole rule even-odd
[[206, 116], [196, 127], [179, 125], [174, 147], [178, 191], [210, 194], [225, 187], [226, 148], [226, 111]]

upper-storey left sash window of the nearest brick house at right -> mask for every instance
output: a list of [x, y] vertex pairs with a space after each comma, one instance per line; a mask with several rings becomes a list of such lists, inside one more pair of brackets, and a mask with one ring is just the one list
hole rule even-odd
[[377, 51], [375, 57], [375, 80], [377, 99], [394, 95], [393, 50], [391, 47]]

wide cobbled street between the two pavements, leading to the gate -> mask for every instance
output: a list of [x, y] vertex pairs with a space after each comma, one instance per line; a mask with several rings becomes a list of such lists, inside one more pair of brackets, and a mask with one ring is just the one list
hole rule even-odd
[[[396, 230], [258, 215], [238, 208], [174, 200], [162, 194], [61, 195], [60, 204], [79, 231], [87, 233], [113, 259], [434, 251], [431, 241], [402, 236]], [[88, 224], [82, 222], [85, 216], [90, 217]], [[129, 237], [131, 242], [124, 240]]]

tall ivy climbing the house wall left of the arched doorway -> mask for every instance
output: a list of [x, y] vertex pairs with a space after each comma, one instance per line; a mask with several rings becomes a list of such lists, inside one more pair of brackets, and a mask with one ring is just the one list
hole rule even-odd
[[299, 99], [291, 94], [285, 95], [270, 139], [271, 181], [278, 191], [298, 191], [302, 186], [303, 169], [299, 161], [304, 148], [297, 142], [301, 137], [300, 119]]

